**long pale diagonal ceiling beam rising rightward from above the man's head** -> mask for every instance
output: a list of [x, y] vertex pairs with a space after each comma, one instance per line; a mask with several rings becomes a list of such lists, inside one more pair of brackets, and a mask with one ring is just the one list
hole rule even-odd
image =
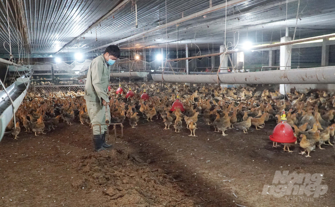
[[[238, 3], [242, 3], [244, 1], [247, 1], [247, 0], [231, 0], [227, 3], [227, 7], [231, 7], [231, 6], [234, 6]], [[117, 40], [117, 41], [114, 41], [114, 42], [111, 42], [111, 43], [108, 43], [108, 44], [104, 44], [102, 46], [99, 46], [99, 47], [96, 47], [94, 49], [91, 49], [91, 50], [88, 50], [88, 51], [85, 51], [85, 52], [91, 52], [91, 51], [94, 51], [94, 50], [97, 50], [97, 49], [100, 49], [100, 48], [104, 48], [104, 47], [107, 47], [108, 45], [110, 44], [118, 44], [118, 43], [122, 43], [122, 42], [125, 42], [125, 41], [128, 41], [128, 40], [131, 40], [135, 37], [139, 37], [139, 36], [142, 36], [142, 35], [146, 35], [146, 34], [149, 34], [149, 33], [152, 33], [154, 31], [157, 31], [157, 30], [161, 30], [161, 29], [165, 29], [167, 27], [171, 27], [173, 25], [177, 25], [179, 23], [182, 23], [182, 22], [185, 22], [185, 21], [188, 21], [188, 20], [191, 20], [191, 19], [194, 19], [196, 17], [200, 17], [200, 16], [203, 16], [205, 14], [208, 14], [208, 13], [211, 13], [213, 11], [217, 11], [217, 10], [220, 10], [220, 9], [224, 9], [226, 8], [226, 3], [222, 3], [222, 4], [219, 4], [219, 5], [216, 5], [216, 6], [212, 6], [212, 7], [209, 7], [207, 9], [204, 9], [204, 10], [201, 10], [199, 12], [196, 12], [194, 14], [191, 14], [189, 16], [186, 16], [186, 17], [183, 17], [181, 19], [177, 19], [175, 21], [172, 21], [172, 22], [169, 22], [165, 25], [161, 25], [159, 27], [155, 27], [155, 28], [152, 28], [150, 30], [147, 30], [145, 32], [142, 32], [142, 33], [138, 33], [136, 35], [132, 35], [132, 36], [129, 36], [129, 37], [126, 37], [126, 38], [123, 38], [123, 39], [120, 39], [120, 40]]]

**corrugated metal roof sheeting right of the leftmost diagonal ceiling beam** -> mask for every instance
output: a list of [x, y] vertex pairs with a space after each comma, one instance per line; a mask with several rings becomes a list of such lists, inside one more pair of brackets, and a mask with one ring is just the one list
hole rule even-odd
[[[189, 3], [189, 6], [185, 7], [184, 5], [187, 5], [187, 2]], [[182, 12], [185, 16], [193, 14], [209, 6], [208, 1], [191, 1], [197, 6], [191, 5], [190, 1], [187, 2], [184, 2], [184, 4], [178, 2], [178, 6], [173, 6], [173, 4], [167, 4], [167, 22], [181, 18]], [[222, 0], [213, 1], [213, 6], [224, 2], [225, 1]], [[278, 2], [282, 2], [282, 4], [279, 6], [271, 7], [273, 3]], [[152, 2], [146, 3], [148, 3], [148, 5], [152, 5]], [[76, 44], [70, 45], [67, 51], [70, 52], [76, 51], [78, 49], [91, 49], [112, 42], [114, 40], [118, 40], [120, 38], [134, 35], [135, 33], [143, 32], [143, 28], [147, 30], [159, 26], [158, 20], [161, 20], [161, 24], [164, 24], [165, 4], [161, 4], [156, 3], [156, 5], [161, 8], [156, 8], [155, 11], [158, 13], [155, 13], [150, 9], [143, 9], [148, 6], [147, 4], [143, 4], [143, 7], [141, 5], [137, 5], [139, 28], [134, 28], [134, 21], [129, 20], [132, 19], [132, 14], [129, 13], [130, 16], [126, 18], [123, 18], [125, 17], [123, 16], [121, 20], [116, 21], [115, 19], [112, 19], [110, 20], [110, 22], [106, 21], [105, 24], [110, 24], [114, 26], [101, 29], [100, 34], [98, 33], [98, 42], [92, 41], [93, 39], [89, 35], [88, 38], [85, 37], [85, 40], [80, 39], [80, 41], [78, 41]], [[171, 7], [174, 8], [173, 11], [169, 9]], [[288, 3], [287, 18], [289, 21], [287, 21], [287, 24], [284, 21], [286, 19], [286, 1], [253, 0], [246, 1], [246, 3], [241, 3], [236, 6], [230, 7], [227, 9], [227, 40], [233, 41], [233, 32], [239, 31], [240, 38], [246, 38], [246, 35], [248, 34], [248, 39], [252, 37], [255, 40], [257, 39], [256, 42], [266, 42], [271, 40], [278, 41], [280, 39], [280, 36], [284, 35], [286, 25], [291, 28], [295, 27], [297, 7], [297, 0]], [[264, 10], [264, 8], [267, 9]], [[125, 8], [125, 10], [127, 10], [127, 8]], [[147, 15], [146, 12], [149, 12], [150, 15]], [[312, 34], [328, 34], [332, 31], [335, 31], [335, 22], [332, 22], [332, 15], [334, 15], [334, 12], [335, 5], [332, 4], [332, 0], [326, 0], [322, 3], [320, 1], [301, 0], [299, 13], [299, 18], [301, 20], [299, 20], [298, 26], [304, 27], [304, 25], [306, 25], [307, 27], [309, 27], [307, 30], [302, 32], [303, 35], [301, 36], [310, 36]], [[327, 13], [329, 15], [327, 15]], [[280, 23], [277, 24], [276, 22]], [[322, 24], [322, 22], [326, 24]], [[327, 27], [325, 27], [325, 25], [327, 25]], [[145, 35], [145, 41], [143, 41], [142, 37], [139, 37], [134, 38], [133, 41], [127, 41], [120, 45], [124, 47], [141, 47], [144, 45], [155, 45], [165, 42], [171, 43], [177, 40], [177, 36], [179, 40], [186, 40], [180, 43], [191, 42], [191, 40], [194, 43], [223, 43], [224, 27], [225, 9], [221, 9], [207, 14], [206, 18], [201, 16], [180, 23], [179, 31], [176, 27], [167, 28], [167, 39], [165, 38], [166, 30], [163, 29]], [[327, 28], [327, 30], [317, 30], [321, 28]], [[257, 38], [256, 31], [258, 31]]]

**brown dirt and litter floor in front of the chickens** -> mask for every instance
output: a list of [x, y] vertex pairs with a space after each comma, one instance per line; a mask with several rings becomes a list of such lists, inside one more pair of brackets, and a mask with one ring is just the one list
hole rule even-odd
[[[0, 142], [0, 206], [2, 207], [334, 207], [335, 154], [331, 146], [306, 158], [272, 148], [275, 123], [249, 134], [235, 129], [229, 136], [198, 122], [198, 137], [163, 130], [162, 120], [141, 120], [124, 137], [110, 141], [115, 149], [93, 152], [91, 130], [60, 123], [35, 137]], [[23, 131], [23, 130], [22, 130]], [[118, 129], [120, 134], [120, 129]], [[332, 141], [333, 138], [332, 138]], [[262, 195], [275, 171], [323, 173], [328, 192], [306, 195]]]

